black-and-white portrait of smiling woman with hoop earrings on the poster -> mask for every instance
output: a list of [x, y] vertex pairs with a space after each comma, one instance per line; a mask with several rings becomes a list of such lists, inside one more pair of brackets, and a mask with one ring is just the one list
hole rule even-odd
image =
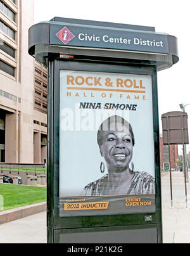
[[[86, 196], [155, 194], [155, 179], [144, 171], [137, 171], [132, 163], [135, 146], [134, 132], [124, 118], [112, 116], [99, 127], [98, 145], [105, 159], [108, 174], [84, 188]], [[101, 162], [100, 171], [105, 172]]]

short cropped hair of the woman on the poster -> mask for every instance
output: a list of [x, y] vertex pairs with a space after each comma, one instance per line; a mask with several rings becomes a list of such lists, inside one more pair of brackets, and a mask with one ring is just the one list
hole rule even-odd
[[[132, 146], [135, 144], [134, 133], [132, 131], [132, 126], [127, 122], [123, 117], [119, 115], [113, 115], [112, 117], [108, 117], [103, 123], [100, 125], [97, 135], [97, 140], [99, 146], [103, 144], [103, 131], [113, 131], [113, 124], [115, 124], [115, 131], [117, 129], [117, 123], [120, 123], [129, 129], [129, 132], [132, 136]], [[112, 129], [112, 130], [111, 130]]]

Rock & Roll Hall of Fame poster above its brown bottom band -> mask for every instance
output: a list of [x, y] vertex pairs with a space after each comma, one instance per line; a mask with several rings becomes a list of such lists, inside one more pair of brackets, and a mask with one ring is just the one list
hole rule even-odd
[[62, 210], [66, 200], [107, 198], [114, 212], [113, 202], [124, 198], [120, 207], [125, 212], [124, 202], [131, 197], [155, 198], [152, 95], [151, 75], [61, 70]]

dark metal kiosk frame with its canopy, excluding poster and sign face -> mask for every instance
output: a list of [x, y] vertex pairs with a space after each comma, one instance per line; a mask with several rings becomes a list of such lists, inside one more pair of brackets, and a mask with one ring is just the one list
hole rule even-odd
[[[57, 22], [57, 23], [56, 23]], [[70, 22], [70, 24], [65, 23]], [[86, 24], [91, 22], [54, 18], [47, 27]], [[92, 22], [90, 25], [108, 25]], [[119, 24], [113, 27], [122, 27]], [[48, 26], [47, 26], [48, 25]], [[130, 26], [130, 25], [128, 25]], [[51, 36], [42, 40], [43, 23], [30, 29], [29, 53], [49, 67], [48, 91], [48, 155], [47, 155], [47, 240], [48, 243], [162, 243], [162, 195], [160, 184], [160, 133], [158, 118], [157, 71], [175, 64], [177, 43], [167, 36], [168, 53], [106, 51], [55, 46]], [[89, 27], [88, 27], [89, 28]], [[134, 29], [134, 27], [131, 27]], [[56, 30], [53, 27], [53, 31]], [[129, 29], [129, 27], [128, 27]], [[135, 28], [137, 29], [137, 28]], [[146, 32], [148, 27], [139, 27]], [[44, 31], [43, 30], [43, 31]], [[57, 29], [58, 30], [58, 29]], [[153, 28], [150, 29], [154, 34]], [[135, 30], [132, 30], [135, 33]], [[49, 33], [49, 32], [48, 32]], [[139, 31], [137, 31], [139, 33]], [[45, 32], [42, 32], [45, 35]], [[48, 36], [47, 36], [48, 35]], [[48, 37], [48, 38], [47, 38]], [[47, 40], [47, 41], [46, 41]], [[37, 42], [38, 41], [38, 42]], [[43, 41], [43, 42], [42, 42]], [[62, 50], [62, 51], [60, 51]], [[147, 49], [146, 49], [147, 50]], [[72, 59], [68, 57], [72, 54]], [[103, 55], [103, 56], [101, 56]], [[156, 212], [141, 214], [92, 215], [60, 217], [60, 70], [77, 70], [132, 75], [151, 75], [153, 91], [153, 133], [155, 148]], [[117, 236], [113, 235], [117, 233]], [[96, 234], [96, 235], [95, 235]]]

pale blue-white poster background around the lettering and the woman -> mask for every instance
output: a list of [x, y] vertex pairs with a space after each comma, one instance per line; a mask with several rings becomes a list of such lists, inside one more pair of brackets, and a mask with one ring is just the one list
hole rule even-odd
[[[110, 78], [113, 86], [116, 79], [142, 80], [146, 89], [146, 100], [143, 95], [135, 93], [79, 91], [67, 89], [67, 76], [101, 77], [101, 81]], [[80, 81], [80, 79], [79, 79]], [[72, 87], [70, 85], [70, 87]], [[83, 86], [73, 87], [89, 87]], [[103, 88], [105, 87], [103, 84]], [[112, 87], [110, 87], [112, 88]], [[127, 89], [127, 88], [125, 88]], [[78, 93], [78, 94], [77, 94]], [[103, 98], [101, 95], [105, 93]], [[69, 96], [67, 96], [67, 94]], [[75, 96], [77, 94], [77, 96]], [[111, 98], [110, 98], [110, 94]], [[120, 97], [122, 94], [122, 98]], [[134, 95], [139, 99], [135, 99]], [[130, 99], [127, 99], [130, 97]], [[94, 97], [94, 98], [92, 98]], [[153, 102], [151, 75], [108, 74], [98, 72], [80, 72], [61, 70], [60, 72], [60, 197], [80, 196], [90, 182], [96, 181], [105, 174], [100, 172], [101, 162], [106, 162], [99, 153], [97, 132], [101, 122], [106, 119], [109, 110], [80, 110], [80, 103], [105, 103], [137, 105], [136, 111], [120, 110], [113, 115], [122, 115], [131, 125], [134, 132], [133, 148], [134, 170], [148, 172], [155, 177], [155, 152], [153, 138]], [[98, 112], [105, 118], [99, 120]], [[98, 116], [98, 118], [95, 118]], [[98, 120], [97, 120], [98, 119]], [[81, 129], [82, 128], [82, 129]], [[67, 130], [67, 131], [66, 131]], [[69, 131], [68, 131], [69, 130]], [[131, 164], [131, 163], [130, 163]]]

